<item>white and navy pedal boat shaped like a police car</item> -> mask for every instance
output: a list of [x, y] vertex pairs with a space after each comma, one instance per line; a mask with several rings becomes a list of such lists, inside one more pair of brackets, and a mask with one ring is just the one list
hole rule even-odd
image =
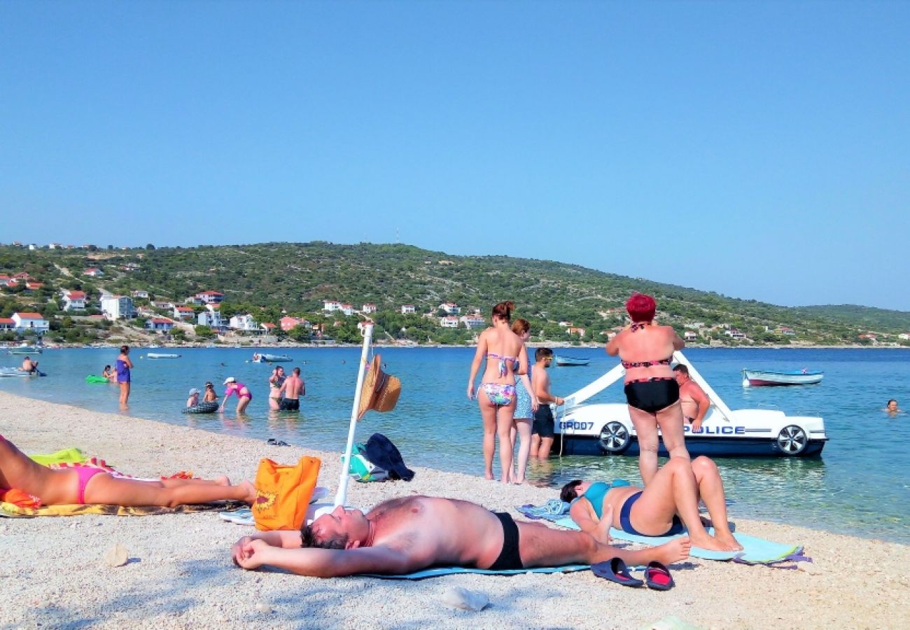
[[[824, 421], [814, 416], [788, 416], [769, 409], [731, 410], [721, 400], [682, 352], [673, 359], [689, 368], [689, 376], [701, 385], [711, 401], [699, 431], [684, 425], [689, 453], [712, 456], [808, 457], [820, 455], [828, 441]], [[621, 381], [625, 371], [617, 365], [601, 378], [566, 397], [558, 410], [556, 433], [567, 455], [637, 455], [638, 438], [623, 403], [583, 404], [592, 396]], [[563, 411], [564, 410], [564, 411]], [[660, 453], [666, 455], [661, 441]]]

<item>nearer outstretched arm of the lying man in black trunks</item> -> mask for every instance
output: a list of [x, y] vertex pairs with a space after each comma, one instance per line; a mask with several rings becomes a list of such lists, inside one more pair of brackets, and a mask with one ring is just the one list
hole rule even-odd
[[245, 569], [268, 564], [298, 575], [341, 577], [365, 573], [412, 573], [432, 564], [432, 559], [425, 556], [413, 551], [406, 553], [388, 545], [357, 549], [282, 549], [262, 540], [253, 540], [242, 546], [237, 562]]

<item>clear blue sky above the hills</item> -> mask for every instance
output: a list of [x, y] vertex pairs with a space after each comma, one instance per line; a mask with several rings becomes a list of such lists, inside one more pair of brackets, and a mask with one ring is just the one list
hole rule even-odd
[[0, 241], [910, 310], [910, 3], [0, 2]]

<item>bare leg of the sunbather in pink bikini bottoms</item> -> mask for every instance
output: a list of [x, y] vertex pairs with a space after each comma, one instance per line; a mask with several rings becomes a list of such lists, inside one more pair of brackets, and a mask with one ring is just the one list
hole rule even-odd
[[253, 503], [256, 500], [256, 488], [249, 482], [238, 485], [181, 483], [167, 487], [159, 482], [140, 482], [135, 479], [112, 477], [109, 474], [96, 474], [86, 484], [85, 499], [86, 503], [163, 507], [226, 499]]

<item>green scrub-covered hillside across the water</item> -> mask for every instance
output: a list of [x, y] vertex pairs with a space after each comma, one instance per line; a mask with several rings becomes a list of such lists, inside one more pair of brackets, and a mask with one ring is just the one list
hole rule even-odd
[[[104, 276], [85, 276], [89, 267], [101, 269]], [[316, 241], [188, 249], [0, 247], [0, 274], [22, 271], [44, 287], [5, 288], [0, 317], [34, 308], [52, 320], [52, 330], [64, 339], [59, 331], [73, 324], [57, 310], [64, 289], [85, 290], [95, 303], [100, 290], [124, 295], [146, 290], [149, 300], [179, 303], [199, 291], [217, 290], [225, 294], [221, 310], [226, 317], [249, 312], [260, 322], [274, 323], [285, 314], [298, 316], [326, 324], [326, 335], [337, 340], [356, 340], [357, 322], [364, 317], [324, 313], [324, 300], [349, 303], [354, 310], [375, 303], [379, 312], [369, 317], [377, 323], [379, 340], [470, 342], [475, 330], [440, 326], [445, 314], [441, 304], [454, 302], [461, 315], [476, 309], [489, 318], [493, 304], [513, 300], [516, 315], [531, 320], [535, 341], [601, 343], [625, 323], [622, 305], [636, 290], [658, 300], [662, 323], [681, 334], [688, 330], [702, 343], [905, 343], [898, 334], [910, 331], [910, 313], [903, 311], [786, 308], [550, 260], [452, 256], [409, 245]], [[402, 314], [404, 304], [414, 305], [416, 313]], [[93, 325], [96, 336], [103, 336], [105, 325]]]

